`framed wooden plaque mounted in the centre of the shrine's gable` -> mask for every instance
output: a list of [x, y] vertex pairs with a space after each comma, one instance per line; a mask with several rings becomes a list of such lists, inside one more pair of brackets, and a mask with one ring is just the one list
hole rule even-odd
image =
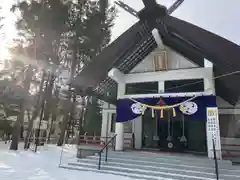
[[153, 56], [153, 67], [155, 71], [167, 70], [167, 55], [165, 51]]

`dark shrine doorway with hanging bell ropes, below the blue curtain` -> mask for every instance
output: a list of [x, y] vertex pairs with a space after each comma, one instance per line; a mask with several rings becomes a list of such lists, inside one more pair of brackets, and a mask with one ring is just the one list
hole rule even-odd
[[178, 113], [172, 116], [172, 111], [164, 111], [164, 117], [150, 111], [143, 116], [142, 144], [144, 149], [158, 149], [164, 152], [205, 153], [206, 123], [192, 120], [191, 116]]

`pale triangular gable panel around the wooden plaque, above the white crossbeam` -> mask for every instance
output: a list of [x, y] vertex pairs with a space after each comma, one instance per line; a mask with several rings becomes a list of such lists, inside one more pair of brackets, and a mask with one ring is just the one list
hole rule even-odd
[[[161, 53], [162, 48], [156, 48], [147, 57], [145, 57], [137, 66], [135, 66], [130, 73], [143, 73], [143, 72], [154, 72], [154, 55]], [[191, 60], [180, 55], [170, 47], [165, 46], [168, 69], [188, 69], [199, 67]]]

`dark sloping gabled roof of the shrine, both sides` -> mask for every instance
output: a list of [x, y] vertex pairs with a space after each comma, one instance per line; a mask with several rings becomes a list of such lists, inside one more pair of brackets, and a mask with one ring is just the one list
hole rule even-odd
[[[95, 57], [75, 78], [74, 85], [99, 97], [116, 99], [117, 84], [108, 77], [112, 68], [129, 73], [157, 44], [152, 29], [157, 28], [165, 45], [199, 66], [204, 58], [214, 65], [214, 75], [240, 70], [240, 47], [216, 34], [178, 18], [166, 15], [156, 19], [154, 26], [140, 20]], [[240, 95], [239, 74], [216, 79], [216, 93], [230, 104]], [[108, 93], [108, 95], [106, 95]], [[110, 94], [110, 95], [109, 95]]]

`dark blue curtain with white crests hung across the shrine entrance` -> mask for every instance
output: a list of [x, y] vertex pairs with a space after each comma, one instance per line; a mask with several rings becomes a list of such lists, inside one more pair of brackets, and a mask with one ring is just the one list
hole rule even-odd
[[[189, 98], [191, 97], [164, 97], [162, 99], [165, 105], [174, 105], [177, 103], [181, 103]], [[135, 100], [148, 105], [159, 105], [160, 98], [137, 98]], [[193, 99], [192, 102], [195, 102], [197, 104], [197, 112], [192, 115], [184, 114], [184, 116], [191, 116], [192, 120], [206, 121], [206, 108], [216, 107], [216, 96], [199, 96]], [[141, 114], [133, 113], [131, 106], [134, 103], [135, 102], [130, 99], [118, 100], [116, 122], [131, 121], [141, 116]], [[179, 115], [180, 113], [182, 114], [179, 107], [176, 107], [175, 110], [177, 115]], [[145, 113], [147, 113], [147, 111], [149, 111], [149, 109], [147, 109]], [[160, 118], [160, 113], [157, 112], [157, 114], [157, 116], [159, 116]]]

